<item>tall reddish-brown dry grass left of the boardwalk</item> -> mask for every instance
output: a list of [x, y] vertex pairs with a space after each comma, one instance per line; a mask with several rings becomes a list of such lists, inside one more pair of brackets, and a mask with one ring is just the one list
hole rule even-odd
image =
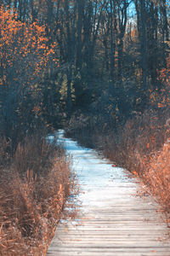
[[37, 135], [11, 162], [0, 173], [0, 255], [45, 255], [70, 194], [70, 163]]

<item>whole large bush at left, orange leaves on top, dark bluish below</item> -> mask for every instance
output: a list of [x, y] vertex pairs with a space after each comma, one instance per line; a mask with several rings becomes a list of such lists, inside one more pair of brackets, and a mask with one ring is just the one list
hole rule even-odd
[[0, 130], [14, 138], [15, 131], [26, 135], [42, 112], [39, 84], [48, 69], [59, 65], [57, 45], [49, 45], [45, 26], [21, 22], [14, 10], [1, 7], [0, 48]]

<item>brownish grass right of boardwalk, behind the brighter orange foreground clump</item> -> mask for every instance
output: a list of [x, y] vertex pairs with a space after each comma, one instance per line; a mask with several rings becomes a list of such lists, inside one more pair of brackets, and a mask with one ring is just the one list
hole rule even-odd
[[165, 123], [165, 115], [146, 111], [141, 116], [128, 119], [116, 131], [100, 135], [100, 148], [117, 165], [139, 172], [141, 176], [150, 155], [159, 150], [167, 138]]

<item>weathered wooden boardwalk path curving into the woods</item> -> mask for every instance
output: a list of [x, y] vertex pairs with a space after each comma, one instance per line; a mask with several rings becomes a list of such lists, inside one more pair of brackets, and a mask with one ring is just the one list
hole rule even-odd
[[[92, 149], [62, 138], [80, 183], [77, 218], [61, 221], [48, 256], [170, 256], [169, 230], [138, 181]], [[130, 177], [131, 176], [131, 177]]]

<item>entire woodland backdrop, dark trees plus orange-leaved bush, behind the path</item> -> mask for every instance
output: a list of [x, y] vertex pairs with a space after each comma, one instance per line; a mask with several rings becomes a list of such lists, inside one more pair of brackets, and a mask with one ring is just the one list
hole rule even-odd
[[115, 127], [150, 105], [169, 104], [168, 1], [1, 6], [0, 126], [6, 137], [20, 140], [35, 123], [58, 128], [80, 113]]

